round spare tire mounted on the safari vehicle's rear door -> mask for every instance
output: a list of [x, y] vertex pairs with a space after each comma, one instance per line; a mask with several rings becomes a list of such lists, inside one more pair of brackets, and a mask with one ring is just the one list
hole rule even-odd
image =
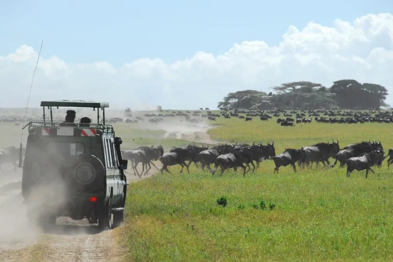
[[105, 181], [105, 167], [95, 155], [82, 154], [76, 157], [71, 174], [68, 176], [72, 188], [92, 192]]

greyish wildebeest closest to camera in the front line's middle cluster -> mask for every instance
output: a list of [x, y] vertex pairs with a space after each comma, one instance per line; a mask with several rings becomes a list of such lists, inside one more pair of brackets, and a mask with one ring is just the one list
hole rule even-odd
[[228, 168], [233, 168], [236, 172], [237, 167], [243, 168], [243, 177], [246, 176], [246, 166], [245, 163], [251, 160], [251, 147], [238, 147], [231, 150], [229, 153], [219, 155], [215, 159], [214, 169], [212, 171], [212, 176], [218, 167], [221, 168], [221, 174]]

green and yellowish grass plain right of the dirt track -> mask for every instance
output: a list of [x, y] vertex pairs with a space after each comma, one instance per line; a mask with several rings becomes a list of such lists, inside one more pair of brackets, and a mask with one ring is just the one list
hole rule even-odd
[[[218, 119], [208, 133], [223, 142], [274, 141], [276, 154], [338, 139], [340, 146], [379, 140], [393, 147], [392, 124], [298, 124], [281, 127], [276, 118], [251, 122]], [[116, 129], [126, 135], [123, 127]], [[127, 138], [128, 139], [128, 138]], [[136, 143], [127, 140], [125, 143]], [[159, 137], [138, 143], [176, 142]], [[148, 144], [147, 143], [147, 144]], [[157, 174], [130, 184], [124, 226], [115, 229], [125, 261], [391, 261], [393, 178], [386, 162], [376, 174], [312, 168], [294, 173], [272, 161], [243, 178], [202, 172]], [[225, 196], [226, 207], [216, 199]], [[261, 201], [266, 209], [260, 208]], [[275, 204], [273, 210], [269, 204]]]

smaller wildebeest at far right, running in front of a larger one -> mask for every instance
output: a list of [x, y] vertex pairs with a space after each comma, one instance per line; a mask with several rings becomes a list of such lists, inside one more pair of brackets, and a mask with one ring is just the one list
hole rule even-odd
[[368, 171], [375, 173], [372, 166], [382, 164], [384, 160], [384, 151], [383, 150], [374, 150], [372, 152], [363, 153], [358, 157], [351, 157], [346, 161], [346, 176], [349, 177], [352, 171], [354, 170], [366, 170], [366, 178], [368, 178]]

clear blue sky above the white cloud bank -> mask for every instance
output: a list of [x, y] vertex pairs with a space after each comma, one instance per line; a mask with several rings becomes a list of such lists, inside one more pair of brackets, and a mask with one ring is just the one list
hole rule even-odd
[[234, 43], [276, 45], [289, 25], [332, 26], [368, 13], [392, 12], [393, 1], [373, 0], [13, 0], [0, 2], [0, 55], [26, 44], [67, 63], [138, 58], [167, 63], [203, 50], [214, 55]]

